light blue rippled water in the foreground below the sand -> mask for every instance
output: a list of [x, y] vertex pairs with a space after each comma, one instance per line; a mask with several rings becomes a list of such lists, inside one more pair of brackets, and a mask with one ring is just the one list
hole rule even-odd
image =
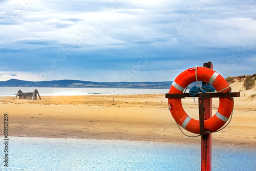
[[[2, 146], [1, 156], [4, 156], [3, 143]], [[183, 171], [201, 168], [200, 144], [10, 137], [8, 148], [9, 167], [1, 162], [1, 170]], [[256, 170], [255, 155], [254, 148], [212, 147], [212, 170]]]

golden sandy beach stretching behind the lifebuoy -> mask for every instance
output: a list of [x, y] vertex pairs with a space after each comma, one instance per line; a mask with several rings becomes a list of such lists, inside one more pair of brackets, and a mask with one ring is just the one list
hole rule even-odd
[[[233, 86], [233, 92], [240, 91], [241, 97], [234, 98], [230, 124], [212, 133], [212, 145], [254, 148], [256, 97], [251, 99], [250, 95], [256, 91]], [[182, 104], [190, 117], [199, 119], [197, 98], [196, 103], [193, 98], [186, 98]], [[212, 114], [218, 105], [219, 99], [214, 98]], [[8, 114], [9, 136], [200, 144], [200, 136], [190, 138], [180, 132], [167, 108], [165, 94], [42, 96], [41, 100], [0, 97], [2, 118]], [[3, 129], [0, 133], [3, 135]]]

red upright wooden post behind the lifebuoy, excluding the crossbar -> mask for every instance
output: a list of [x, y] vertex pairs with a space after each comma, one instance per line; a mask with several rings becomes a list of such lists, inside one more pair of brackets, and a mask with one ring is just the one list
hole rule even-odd
[[[204, 63], [204, 67], [209, 69], [213, 68], [211, 62]], [[203, 85], [204, 84], [206, 83], [203, 82]], [[201, 104], [203, 105], [204, 120], [211, 118], [212, 98], [201, 99]], [[200, 105], [200, 99], [199, 99], [199, 105]], [[201, 144], [201, 170], [211, 171], [211, 134], [201, 135], [201, 143], [202, 143]]]

